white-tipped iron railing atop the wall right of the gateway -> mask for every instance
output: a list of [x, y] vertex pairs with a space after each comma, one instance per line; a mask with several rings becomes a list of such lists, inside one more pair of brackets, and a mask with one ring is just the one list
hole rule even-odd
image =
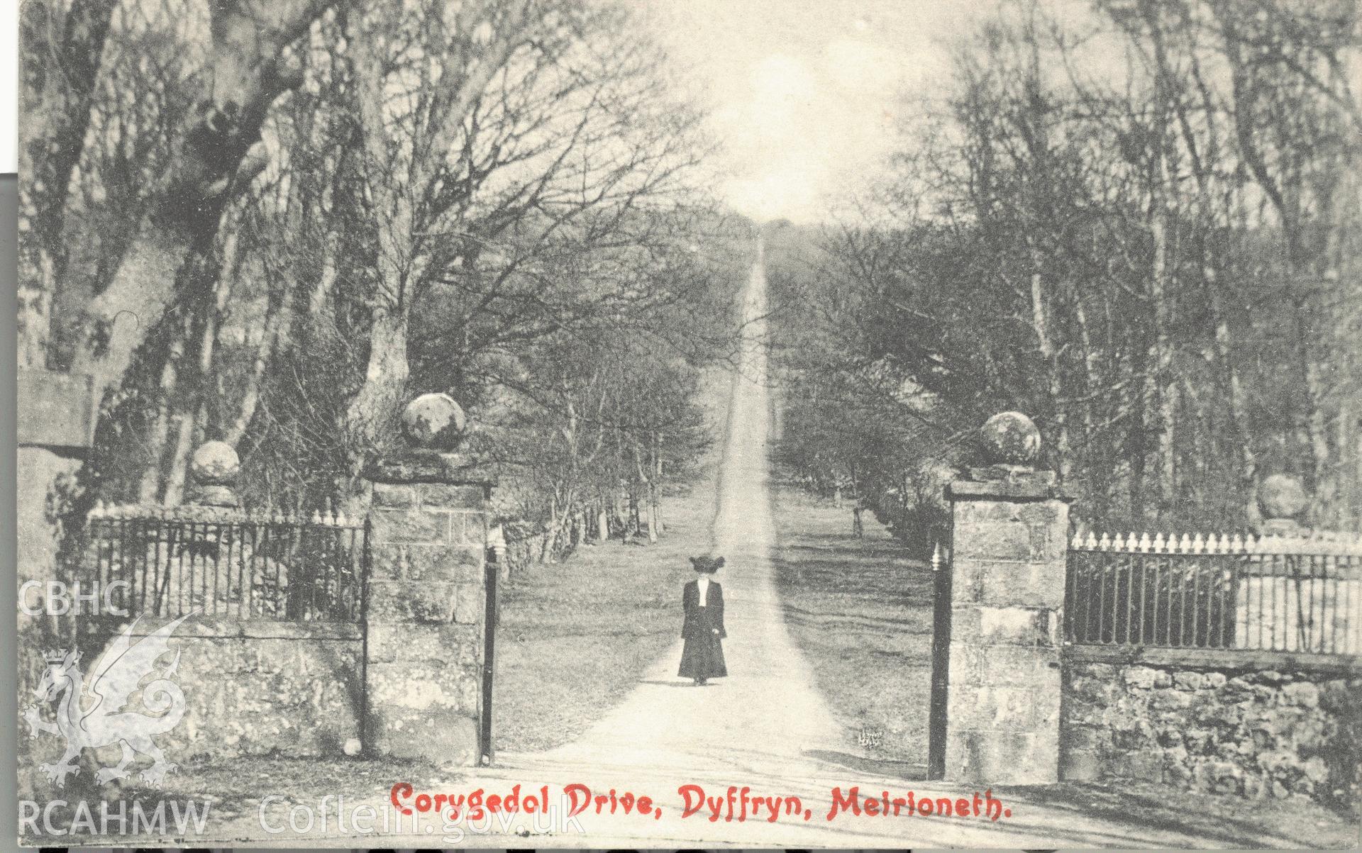
[[1362, 653], [1355, 536], [1077, 535], [1065, 635], [1073, 643]]

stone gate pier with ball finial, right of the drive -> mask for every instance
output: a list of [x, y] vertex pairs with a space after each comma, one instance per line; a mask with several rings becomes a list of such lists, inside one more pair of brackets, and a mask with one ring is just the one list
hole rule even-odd
[[1030, 418], [994, 415], [982, 439], [987, 464], [947, 488], [929, 770], [985, 785], [1056, 782], [1069, 498], [1034, 468], [1041, 434]]

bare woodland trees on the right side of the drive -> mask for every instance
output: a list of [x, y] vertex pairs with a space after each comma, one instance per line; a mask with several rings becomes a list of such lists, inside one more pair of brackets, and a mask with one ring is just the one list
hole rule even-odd
[[862, 216], [768, 229], [790, 469], [930, 548], [972, 430], [1017, 409], [1080, 522], [1241, 529], [1284, 472], [1358, 529], [1358, 26], [1022, 0], [962, 38]]

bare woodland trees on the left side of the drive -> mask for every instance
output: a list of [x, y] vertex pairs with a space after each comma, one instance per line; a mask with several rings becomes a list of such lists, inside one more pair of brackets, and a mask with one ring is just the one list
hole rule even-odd
[[180, 503], [206, 439], [248, 506], [358, 510], [402, 404], [441, 390], [545, 555], [655, 536], [746, 233], [631, 15], [26, 3], [20, 363], [102, 400], [53, 513]]

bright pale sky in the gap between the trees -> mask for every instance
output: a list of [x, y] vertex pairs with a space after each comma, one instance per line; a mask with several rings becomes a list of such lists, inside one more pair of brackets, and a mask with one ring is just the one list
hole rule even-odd
[[719, 193], [819, 222], [868, 186], [902, 95], [930, 93], [986, 0], [635, 0], [692, 69], [723, 146]]

